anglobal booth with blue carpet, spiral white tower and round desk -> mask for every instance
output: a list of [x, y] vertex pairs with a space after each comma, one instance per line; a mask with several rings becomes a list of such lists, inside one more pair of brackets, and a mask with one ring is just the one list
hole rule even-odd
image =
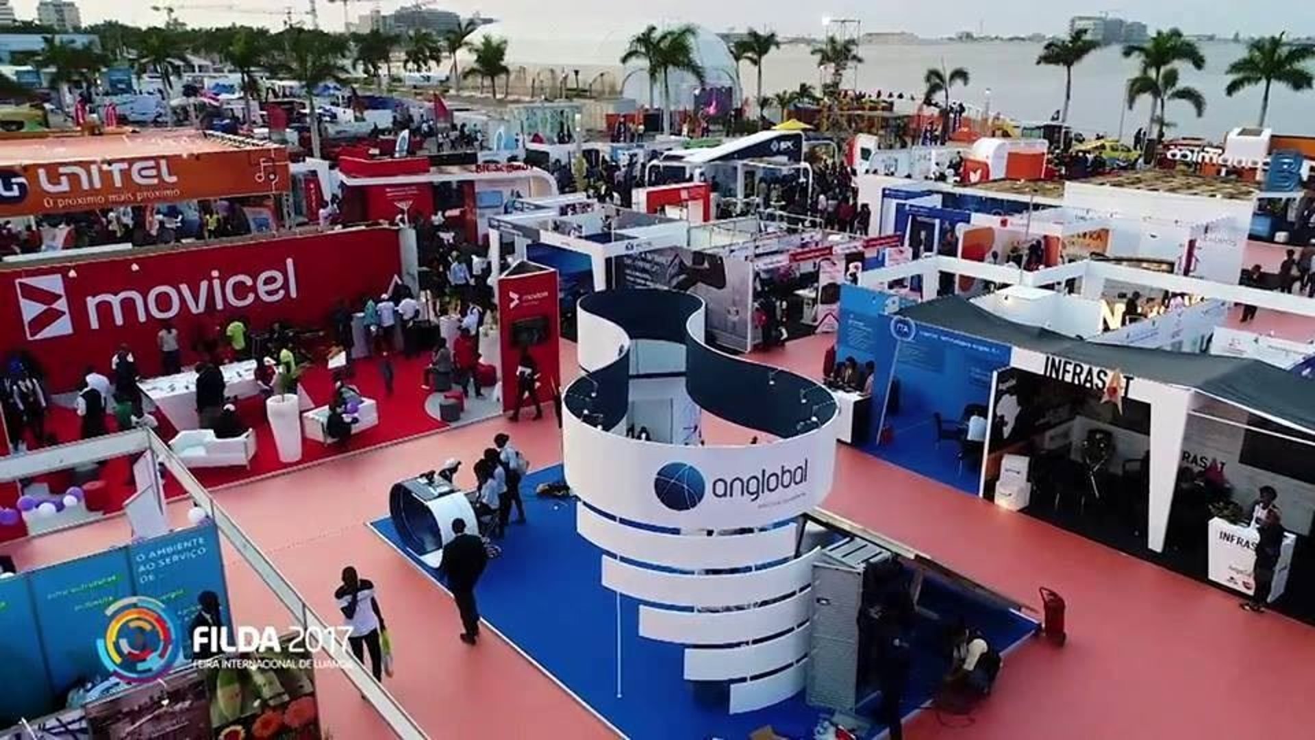
[[[835, 474], [831, 392], [714, 349], [701, 298], [613, 290], [579, 311], [564, 463], [521, 482], [529, 524], [493, 540], [479, 600], [618, 733], [800, 737], [821, 718], [880, 733], [860, 610], [882, 594], [911, 599], [901, 714], [938, 693], [948, 625], [1002, 652], [1035, 633], [1019, 603], [817, 508]], [[711, 416], [743, 438], [704, 444]], [[441, 519], [464, 498], [435, 486], [394, 487], [394, 515], [373, 527], [437, 581]]]

